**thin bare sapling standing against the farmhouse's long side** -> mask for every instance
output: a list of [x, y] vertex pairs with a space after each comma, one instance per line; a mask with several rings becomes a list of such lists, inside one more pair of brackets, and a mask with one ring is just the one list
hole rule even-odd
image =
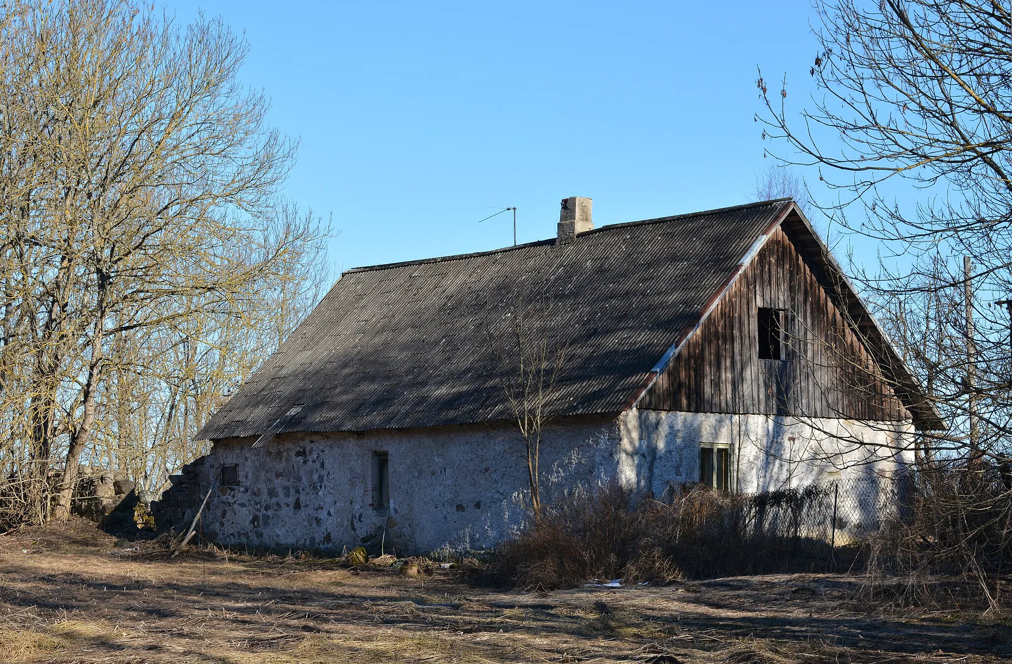
[[496, 360], [496, 377], [523, 443], [530, 510], [537, 523], [541, 515], [541, 440], [557, 414], [559, 381], [569, 345], [557, 325], [553, 299], [543, 284], [521, 282], [490, 318], [489, 346]]

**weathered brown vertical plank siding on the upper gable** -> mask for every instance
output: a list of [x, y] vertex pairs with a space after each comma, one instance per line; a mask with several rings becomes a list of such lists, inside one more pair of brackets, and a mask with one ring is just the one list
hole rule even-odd
[[[640, 407], [896, 420], [909, 417], [818, 274], [782, 228]], [[781, 309], [785, 360], [760, 360], [757, 310]]]

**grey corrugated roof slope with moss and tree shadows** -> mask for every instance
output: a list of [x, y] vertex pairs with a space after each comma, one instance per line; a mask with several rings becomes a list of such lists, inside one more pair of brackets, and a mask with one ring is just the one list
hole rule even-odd
[[559, 414], [617, 412], [789, 200], [603, 226], [570, 244], [356, 268], [198, 434], [367, 431], [508, 417], [486, 329], [521, 279], [572, 330]]

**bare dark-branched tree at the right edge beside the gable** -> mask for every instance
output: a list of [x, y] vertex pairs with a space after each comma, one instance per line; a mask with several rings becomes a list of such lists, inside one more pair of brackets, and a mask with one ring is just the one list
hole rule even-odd
[[[836, 191], [840, 202], [825, 211], [839, 226], [880, 243], [884, 260], [859, 282], [950, 425], [923, 434], [918, 450], [937, 470], [924, 475], [934, 478], [924, 495], [937, 496], [924, 513], [948, 526], [904, 546], [911, 561], [958, 560], [977, 577], [1001, 568], [1012, 538], [1012, 321], [991, 306], [1012, 293], [1012, 9], [983, 0], [816, 8], [820, 48], [807, 74], [818, 95], [793, 115], [786, 78], [772, 86], [760, 75], [757, 119], [778, 141], [771, 154], [818, 169]], [[916, 202], [901, 204], [904, 194]], [[938, 530], [956, 527], [958, 537]], [[925, 554], [932, 542], [935, 557]]]

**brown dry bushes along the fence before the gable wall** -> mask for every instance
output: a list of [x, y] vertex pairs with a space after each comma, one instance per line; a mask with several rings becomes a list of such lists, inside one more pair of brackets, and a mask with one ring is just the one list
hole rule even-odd
[[729, 495], [693, 485], [639, 501], [615, 484], [578, 490], [500, 548], [500, 576], [559, 588], [823, 570], [839, 560], [809, 527], [827, 523], [828, 498], [819, 486]]

